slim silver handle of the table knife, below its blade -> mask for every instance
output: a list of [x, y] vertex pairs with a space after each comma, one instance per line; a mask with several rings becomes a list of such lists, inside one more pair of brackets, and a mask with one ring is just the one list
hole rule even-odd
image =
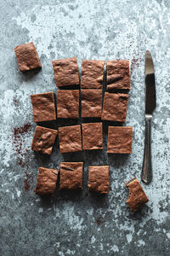
[[142, 181], [150, 183], [152, 179], [152, 166], [151, 166], [151, 115], [145, 116], [145, 139], [144, 139], [144, 162], [142, 168]]

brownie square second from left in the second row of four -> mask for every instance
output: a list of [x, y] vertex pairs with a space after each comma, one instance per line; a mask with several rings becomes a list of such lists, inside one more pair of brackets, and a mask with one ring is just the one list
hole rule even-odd
[[57, 117], [59, 119], [79, 118], [79, 90], [58, 90]]

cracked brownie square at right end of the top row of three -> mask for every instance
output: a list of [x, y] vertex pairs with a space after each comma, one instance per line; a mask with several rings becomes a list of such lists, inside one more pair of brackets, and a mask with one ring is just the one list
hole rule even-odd
[[129, 61], [107, 61], [107, 90], [130, 90]]

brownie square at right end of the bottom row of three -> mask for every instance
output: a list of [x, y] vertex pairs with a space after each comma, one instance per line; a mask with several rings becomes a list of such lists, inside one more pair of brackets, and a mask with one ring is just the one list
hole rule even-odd
[[88, 190], [109, 193], [109, 166], [88, 167]]

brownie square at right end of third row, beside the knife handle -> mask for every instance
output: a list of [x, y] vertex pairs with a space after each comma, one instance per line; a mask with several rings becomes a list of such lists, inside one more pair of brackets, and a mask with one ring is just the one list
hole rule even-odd
[[107, 153], [131, 154], [133, 127], [109, 126]]

